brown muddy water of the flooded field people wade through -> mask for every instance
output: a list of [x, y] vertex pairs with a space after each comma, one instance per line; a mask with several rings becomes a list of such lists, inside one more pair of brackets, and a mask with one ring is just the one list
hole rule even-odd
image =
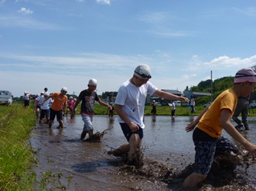
[[[94, 132], [109, 129], [101, 142], [79, 140], [83, 129], [80, 115], [75, 119], [65, 116], [63, 129], [57, 129], [57, 122], [51, 129], [37, 123], [30, 140], [39, 161], [34, 168], [40, 186], [36, 190], [256, 190], [256, 165], [246, 153], [248, 158], [240, 158], [234, 172], [221, 166], [230, 161], [220, 161], [222, 170], [216, 167], [204, 183], [195, 189], [183, 189], [195, 153], [192, 132], [186, 132], [185, 127], [194, 118], [145, 116], [141, 168], [107, 154], [126, 141], [117, 116], [94, 116]], [[256, 144], [256, 118], [249, 117], [248, 122], [251, 130], [241, 134]], [[230, 138], [225, 131], [223, 135]]]

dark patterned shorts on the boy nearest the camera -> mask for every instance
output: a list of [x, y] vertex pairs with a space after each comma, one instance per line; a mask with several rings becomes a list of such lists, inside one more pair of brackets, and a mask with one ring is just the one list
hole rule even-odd
[[225, 151], [233, 151], [235, 154], [238, 153], [238, 148], [228, 140], [221, 136], [216, 141], [196, 141], [195, 150], [195, 167], [196, 173], [208, 174], [212, 167], [215, 154], [222, 154]]

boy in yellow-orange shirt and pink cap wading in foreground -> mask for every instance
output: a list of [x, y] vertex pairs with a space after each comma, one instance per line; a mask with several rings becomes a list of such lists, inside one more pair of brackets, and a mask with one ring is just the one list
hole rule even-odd
[[193, 142], [196, 150], [195, 171], [186, 177], [183, 182], [184, 187], [195, 187], [206, 179], [212, 167], [215, 153], [223, 154], [225, 151], [240, 153], [236, 145], [222, 136], [222, 129], [225, 129], [229, 135], [240, 142], [255, 158], [256, 145], [248, 142], [230, 121], [235, 112], [238, 97], [246, 97], [255, 88], [255, 72], [251, 68], [242, 68], [235, 74], [233, 87], [219, 94], [192, 123], [186, 126], [186, 132], [190, 132], [197, 125], [193, 131]]

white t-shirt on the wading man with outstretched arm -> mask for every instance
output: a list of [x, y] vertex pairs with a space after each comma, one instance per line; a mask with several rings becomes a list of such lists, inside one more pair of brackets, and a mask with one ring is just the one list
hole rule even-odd
[[[155, 91], [157, 88], [150, 81], [138, 88], [128, 80], [119, 88], [115, 104], [122, 105], [122, 110], [131, 122], [144, 129], [144, 104], [147, 94], [153, 95]], [[118, 123], [125, 122], [118, 116]]]

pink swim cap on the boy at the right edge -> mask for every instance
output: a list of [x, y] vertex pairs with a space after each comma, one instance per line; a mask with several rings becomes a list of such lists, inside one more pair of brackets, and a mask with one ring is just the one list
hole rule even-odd
[[256, 82], [255, 72], [251, 68], [242, 68], [235, 74], [234, 83], [241, 83], [245, 81]]

